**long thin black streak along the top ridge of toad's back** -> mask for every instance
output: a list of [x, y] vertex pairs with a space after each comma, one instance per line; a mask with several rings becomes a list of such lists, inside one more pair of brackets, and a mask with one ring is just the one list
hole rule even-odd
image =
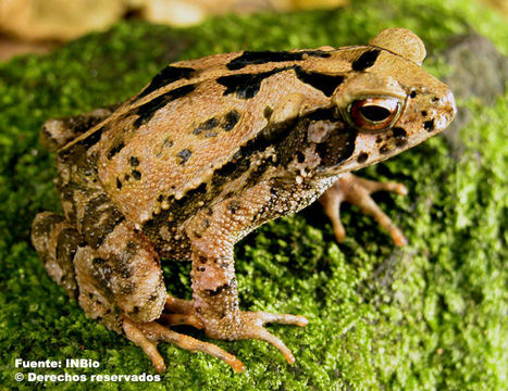
[[322, 50], [306, 50], [300, 52], [287, 51], [245, 51], [236, 59], [233, 59], [226, 64], [230, 71], [241, 70], [243, 67], [251, 64], [265, 64], [270, 62], [286, 62], [286, 61], [301, 61], [305, 55], [312, 55], [319, 58], [330, 58], [331, 54]]

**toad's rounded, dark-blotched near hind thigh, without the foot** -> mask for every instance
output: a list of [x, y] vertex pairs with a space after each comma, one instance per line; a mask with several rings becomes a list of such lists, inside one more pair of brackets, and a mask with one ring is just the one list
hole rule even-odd
[[74, 258], [79, 304], [115, 329], [126, 315], [135, 321], [158, 318], [166, 300], [162, 269], [150, 241], [124, 220], [100, 245], [79, 247]]

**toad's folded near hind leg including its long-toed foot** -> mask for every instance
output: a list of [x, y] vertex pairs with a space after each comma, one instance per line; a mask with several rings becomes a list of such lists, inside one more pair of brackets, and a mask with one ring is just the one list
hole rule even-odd
[[45, 212], [36, 216], [32, 238], [51, 277], [71, 297], [77, 297], [91, 318], [140, 346], [158, 371], [165, 369], [157, 350], [160, 341], [213, 355], [235, 371], [244, 369], [240, 361], [219, 346], [163, 326], [200, 325], [181, 307], [172, 308], [176, 314], [162, 315], [168, 293], [159, 258], [149, 241], [129, 223], [116, 224], [100, 244], [87, 243], [86, 235], [80, 236], [63, 217]]

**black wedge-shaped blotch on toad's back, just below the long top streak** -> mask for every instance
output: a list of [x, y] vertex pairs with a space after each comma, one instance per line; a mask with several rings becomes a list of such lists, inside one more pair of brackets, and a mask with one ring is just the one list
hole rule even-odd
[[225, 91], [222, 93], [223, 96], [236, 93], [238, 99], [250, 99], [256, 97], [256, 94], [259, 92], [259, 89], [261, 88], [261, 81], [263, 81], [267, 77], [290, 68], [293, 67], [286, 66], [257, 74], [236, 74], [222, 76], [216, 79], [216, 83], [226, 87]]

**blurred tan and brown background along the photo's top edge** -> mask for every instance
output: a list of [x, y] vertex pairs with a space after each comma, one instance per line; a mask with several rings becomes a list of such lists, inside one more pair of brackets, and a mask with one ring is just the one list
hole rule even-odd
[[[507, 0], [478, 0], [508, 16]], [[0, 61], [47, 52], [121, 18], [141, 18], [173, 27], [218, 14], [262, 10], [287, 12], [347, 7], [349, 0], [0, 0]]]

